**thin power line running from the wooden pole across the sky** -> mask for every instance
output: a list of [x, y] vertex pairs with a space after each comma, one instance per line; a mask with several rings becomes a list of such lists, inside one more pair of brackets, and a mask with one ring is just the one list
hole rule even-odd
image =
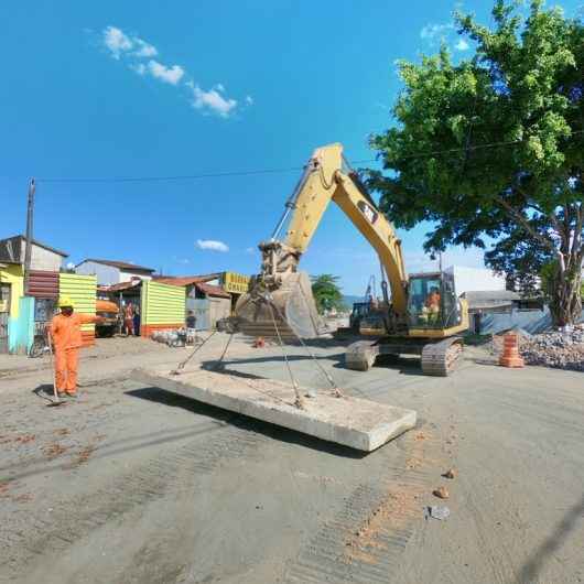
[[[574, 134], [584, 133], [584, 130], [575, 130]], [[419, 152], [414, 154], [408, 154], [400, 156], [401, 160], [410, 160], [417, 158], [429, 158], [436, 156], [440, 154], [452, 154], [456, 152], [469, 152], [474, 150], [485, 150], [490, 148], [504, 148], [512, 147], [523, 143], [524, 140], [509, 140], [501, 142], [490, 142], [486, 144], [475, 144], [459, 148], [450, 148], [444, 150], [433, 150], [428, 152]], [[382, 160], [382, 159], [381, 159]], [[380, 159], [365, 159], [353, 161], [353, 164], [368, 164], [371, 162], [379, 162]], [[215, 173], [202, 173], [202, 174], [180, 174], [170, 176], [93, 176], [93, 177], [40, 177], [36, 179], [36, 183], [162, 183], [162, 182], [180, 182], [180, 181], [197, 181], [202, 179], [220, 179], [220, 177], [232, 177], [232, 176], [253, 176], [261, 174], [282, 174], [286, 172], [299, 172], [304, 166], [288, 166], [282, 169], [262, 169], [252, 171], [225, 171]]]

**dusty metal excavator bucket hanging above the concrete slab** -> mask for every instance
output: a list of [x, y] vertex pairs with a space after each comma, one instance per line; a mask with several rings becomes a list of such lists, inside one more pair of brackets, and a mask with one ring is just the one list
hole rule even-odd
[[315, 338], [328, 332], [316, 311], [306, 272], [282, 274], [282, 283], [267, 291], [252, 284], [236, 304], [239, 329], [249, 336], [295, 342]]

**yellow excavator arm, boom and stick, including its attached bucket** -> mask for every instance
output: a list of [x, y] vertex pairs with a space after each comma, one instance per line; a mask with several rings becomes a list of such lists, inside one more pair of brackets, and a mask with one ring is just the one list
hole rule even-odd
[[[405, 321], [408, 275], [400, 240], [357, 179], [346, 170], [343, 147], [329, 144], [314, 151], [272, 238], [259, 245], [261, 273], [236, 305], [244, 332], [282, 338], [313, 337], [324, 332], [310, 280], [298, 266], [331, 202], [343, 209], [377, 251], [391, 289], [389, 316], [396, 323]], [[280, 240], [278, 236], [286, 220], [288, 230]]]

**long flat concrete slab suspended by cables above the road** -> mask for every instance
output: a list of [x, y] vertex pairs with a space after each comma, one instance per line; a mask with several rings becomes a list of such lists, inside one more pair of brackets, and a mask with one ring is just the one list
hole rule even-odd
[[[249, 379], [204, 369], [173, 375], [167, 369], [137, 369], [132, 378], [217, 408], [371, 452], [415, 425], [417, 414], [359, 398], [337, 398], [318, 391], [294, 405], [291, 385], [273, 379]], [[306, 390], [303, 390], [303, 394]]]

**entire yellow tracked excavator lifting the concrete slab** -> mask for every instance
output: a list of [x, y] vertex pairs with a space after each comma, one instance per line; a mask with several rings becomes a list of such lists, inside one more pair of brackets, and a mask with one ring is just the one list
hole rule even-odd
[[[468, 328], [467, 304], [457, 298], [448, 273], [408, 275], [392, 225], [350, 170], [338, 143], [314, 151], [272, 237], [259, 245], [261, 271], [236, 304], [237, 328], [281, 343], [327, 332], [309, 275], [299, 270], [299, 263], [331, 201], [375, 249], [382, 270], [383, 301], [361, 320], [359, 334], [368, 339], [347, 348], [346, 367], [367, 370], [380, 355], [410, 354], [421, 356], [423, 374], [447, 376], [461, 361], [459, 334]], [[286, 223], [285, 238], [280, 240]]]

